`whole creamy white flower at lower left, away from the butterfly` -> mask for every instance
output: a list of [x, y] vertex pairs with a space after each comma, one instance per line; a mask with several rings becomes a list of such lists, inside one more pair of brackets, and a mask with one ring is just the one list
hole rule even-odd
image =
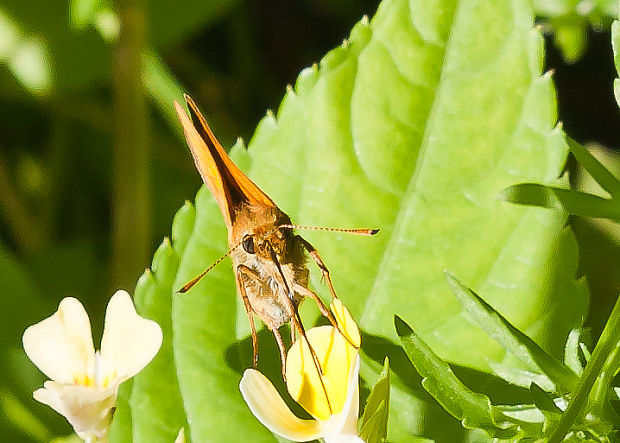
[[84, 307], [72, 297], [26, 329], [22, 340], [28, 358], [51, 379], [34, 398], [65, 416], [80, 438], [105, 441], [118, 386], [155, 357], [162, 332], [120, 290], [108, 303], [101, 351], [95, 352]]

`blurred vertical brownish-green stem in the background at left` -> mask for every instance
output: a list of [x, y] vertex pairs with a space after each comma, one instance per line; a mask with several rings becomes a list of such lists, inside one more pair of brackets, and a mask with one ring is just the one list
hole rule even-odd
[[146, 17], [143, 0], [118, 2], [116, 48], [113, 258], [114, 287], [130, 287], [150, 253], [149, 143], [142, 83]]

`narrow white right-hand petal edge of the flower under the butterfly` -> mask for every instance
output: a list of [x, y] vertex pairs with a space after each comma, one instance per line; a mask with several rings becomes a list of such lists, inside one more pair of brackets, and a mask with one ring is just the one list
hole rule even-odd
[[[331, 417], [325, 425], [325, 441], [327, 438], [339, 438], [344, 436], [357, 436], [357, 418], [359, 415], [359, 370], [360, 356], [355, 357], [354, 366], [349, 373], [347, 384], [347, 399], [345, 400], [342, 412]], [[349, 441], [349, 440], [330, 440], [330, 441]], [[351, 440], [357, 441], [357, 440]], [[361, 441], [361, 440], [360, 440]]]

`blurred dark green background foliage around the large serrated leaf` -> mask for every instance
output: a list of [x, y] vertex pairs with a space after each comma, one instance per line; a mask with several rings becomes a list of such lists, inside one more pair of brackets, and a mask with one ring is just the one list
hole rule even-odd
[[[46, 407], [31, 415], [32, 386], [42, 376], [20, 352], [24, 328], [75, 296], [100, 336], [109, 296], [132, 290], [176, 210], [193, 200], [200, 178], [172, 101], [190, 93], [223, 145], [249, 140], [299, 71], [339, 45], [378, 3], [0, 3], [2, 441], [69, 433]], [[536, 3], [564, 129], [579, 142], [620, 149], [613, 10]], [[604, 152], [612, 168], [618, 164]], [[618, 237], [608, 225], [571, 224], [590, 277], [596, 336], [620, 290], [611, 272], [620, 263]]]

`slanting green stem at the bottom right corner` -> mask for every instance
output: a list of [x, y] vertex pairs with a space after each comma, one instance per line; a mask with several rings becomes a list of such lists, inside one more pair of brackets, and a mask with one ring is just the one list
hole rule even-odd
[[[603, 333], [594, 348], [594, 352], [592, 353], [592, 358], [588, 362], [586, 369], [583, 371], [583, 374], [579, 378], [579, 382], [577, 383], [577, 387], [575, 388], [575, 393], [573, 395], [572, 400], [568, 404], [568, 408], [564, 412], [560, 423], [558, 423], [558, 427], [555, 429], [551, 438], [549, 439], [549, 443], [559, 443], [562, 441], [564, 436], [568, 433], [571, 426], [580, 415], [592, 386], [596, 382], [603, 366], [605, 366], [606, 362], [610, 364], [613, 363], [613, 358], [610, 358], [615, 354], [620, 348], [620, 298], [616, 300], [616, 305], [614, 306], [613, 311], [605, 325], [605, 329], [603, 329]], [[610, 368], [611, 369], [611, 368]]]

